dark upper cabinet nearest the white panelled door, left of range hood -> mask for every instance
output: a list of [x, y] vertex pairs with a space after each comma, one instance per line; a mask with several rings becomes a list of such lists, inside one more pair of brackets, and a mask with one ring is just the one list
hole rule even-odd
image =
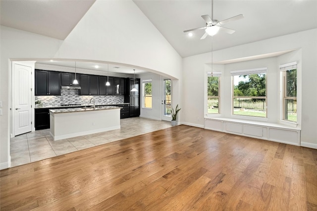
[[60, 95], [60, 73], [35, 70], [35, 95]]

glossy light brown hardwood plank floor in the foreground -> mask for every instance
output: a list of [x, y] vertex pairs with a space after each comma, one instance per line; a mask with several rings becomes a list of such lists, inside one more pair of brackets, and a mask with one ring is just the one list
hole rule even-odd
[[1, 211], [317, 209], [317, 150], [184, 125], [0, 174]]

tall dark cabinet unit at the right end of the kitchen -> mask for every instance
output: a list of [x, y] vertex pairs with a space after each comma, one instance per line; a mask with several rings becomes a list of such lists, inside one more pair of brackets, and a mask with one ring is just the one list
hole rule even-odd
[[[134, 85], [135, 84], [135, 85]], [[126, 80], [126, 92], [129, 95], [124, 96], [124, 102], [130, 103], [129, 106], [129, 117], [139, 117], [140, 116], [140, 79], [127, 79]], [[135, 87], [138, 91], [130, 91]]]

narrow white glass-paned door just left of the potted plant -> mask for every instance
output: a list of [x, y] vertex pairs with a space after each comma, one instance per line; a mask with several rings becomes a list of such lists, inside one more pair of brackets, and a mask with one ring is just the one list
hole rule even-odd
[[171, 80], [164, 79], [162, 80], [162, 120], [171, 121], [172, 116], [170, 113], [171, 110]]

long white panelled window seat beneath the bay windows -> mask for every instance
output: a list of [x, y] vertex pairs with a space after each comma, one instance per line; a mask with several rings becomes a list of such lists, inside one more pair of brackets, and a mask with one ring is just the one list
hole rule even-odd
[[301, 145], [301, 129], [278, 123], [222, 117], [205, 117], [205, 129], [260, 138], [296, 146]]

